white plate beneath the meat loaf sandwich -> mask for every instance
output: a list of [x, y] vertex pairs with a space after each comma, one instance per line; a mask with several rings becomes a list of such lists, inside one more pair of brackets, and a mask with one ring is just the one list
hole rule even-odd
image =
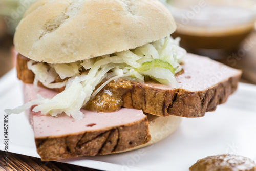
[[[0, 149], [4, 150], [4, 109], [23, 103], [20, 83], [12, 70], [0, 79]], [[39, 157], [25, 114], [9, 116], [9, 152]], [[177, 131], [154, 145], [132, 152], [77, 157], [60, 162], [101, 170], [188, 170], [198, 159], [223, 153], [256, 160], [256, 86], [239, 89], [215, 112], [183, 118]], [[46, 163], [47, 164], [47, 163]]]

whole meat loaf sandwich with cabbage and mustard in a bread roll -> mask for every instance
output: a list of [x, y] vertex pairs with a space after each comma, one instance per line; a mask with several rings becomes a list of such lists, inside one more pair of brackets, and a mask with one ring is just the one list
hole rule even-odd
[[187, 54], [156, 0], [38, 0], [14, 45], [23, 106], [43, 161], [162, 140], [236, 91], [241, 71]]

